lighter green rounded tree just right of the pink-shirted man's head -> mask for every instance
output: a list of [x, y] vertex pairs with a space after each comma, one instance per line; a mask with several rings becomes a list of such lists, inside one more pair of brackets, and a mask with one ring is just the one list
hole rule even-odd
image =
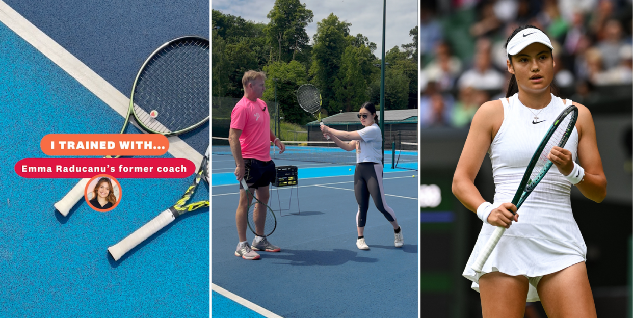
[[[277, 85], [277, 105], [280, 110], [280, 117], [284, 117], [285, 122], [304, 125], [306, 122], [314, 120], [310, 113], [304, 111], [297, 103], [296, 90], [299, 86], [306, 84], [306, 68], [299, 61], [275, 61], [264, 67], [266, 72], [266, 91], [264, 100], [275, 100], [275, 84]], [[273, 114], [270, 114], [272, 120]]]

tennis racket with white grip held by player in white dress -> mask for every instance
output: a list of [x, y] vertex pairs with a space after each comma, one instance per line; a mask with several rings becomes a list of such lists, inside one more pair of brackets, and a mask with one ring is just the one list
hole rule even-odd
[[[525, 174], [523, 174], [523, 179], [518, 186], [517, 193], [512, 199], [512, 204], [517, 207], [517, 210], [521, 207], [525, 199], [527, 199], [527, 196], [532, 193], [536, 185], [541, 182], [545, 174], [548, 173], [549, 168], [552, 166], [552, 162], [548, 159], [549, 151], [551, 151], [554, 146], [565, 146], [567, 139], [569, 139], [570, 134], [572, 134], [577, 118], [578, 108], [576, 106], [569, 106], [558, 115], [551, 127], [549, 127], [541, 144], [539, 144], [539, 147], [534, 152], [527, 169], [525, 169]], [[501, 226], [494, 229], [492, 236], [488, 239], [483, 250], [471, 267], [475, 272], [481, 272], [492, 250], [497, 246], [499, 239], [501, 239], [505, 231], [506, 228]]]

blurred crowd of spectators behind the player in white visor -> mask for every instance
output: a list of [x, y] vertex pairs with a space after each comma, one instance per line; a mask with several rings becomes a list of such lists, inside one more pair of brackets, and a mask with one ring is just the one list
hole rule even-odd
[[[582, 103], [597, 87], [631, 86], [632, 3], [422, 0], [420, 124], [468, 127], [482, 103], [505, 97], [510, 73], [504, 46], [513, 30], [525, 24], [543, 30], [552, 41], [556, 84], [561, 95], [565, 92], [561, 97]], [[460, 29], [456, 21], [461, 16], [472, 16], [472, 23]], [[456, 46], [471, 46], [472, 54], [458, 57], [455, 52], [464, 50]]]

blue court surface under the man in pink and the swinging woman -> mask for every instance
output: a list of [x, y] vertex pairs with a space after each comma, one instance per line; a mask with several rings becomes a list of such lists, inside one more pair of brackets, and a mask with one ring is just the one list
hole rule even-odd
[[[275, 212], [277, 229], [268, 238], [281, 251], [244, 260], [234, 255], [239, 194], [230, 176], [235, 163], [231, 156], [211, 159], [212, 289], [219, 286], [272, 314], [265, 317], [417, 317], [416, 171], [385, 169], [384, 174], [385, 198], [403, 231], [403, 248], [394, 247], [391, 224], [370, 203], [365, 227], [370, 250], [363, 251], [356, 248], [354, 167], [275, 160], [277, 166], [295, 165], [299, 174], [298, 186], [273, 187], [270, 193], [273, 210], [288, 209]], [[253, 237], [247, 231], [249, 241]], [[213, 317], [242, 317], [238, 310], [246, 307], [213, 291]]]

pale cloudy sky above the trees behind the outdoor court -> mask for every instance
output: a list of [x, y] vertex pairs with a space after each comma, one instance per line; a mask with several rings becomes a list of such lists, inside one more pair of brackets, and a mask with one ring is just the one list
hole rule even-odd
[[[382, 4], [381, 0], [300, 0], [306, 8], [312, 10], [314, 18], [306, 33], [310, 44], [316, 33], [316, 22], [320, 22], [330, 13], [339, 20], [351, 23], [349, 34], [363, 34], [377, 46], [374, 54], [380, 58], [382, 49]], [[387, 1], [387, 19], [385, 23], [385, 51], [394, 46], [413, 42], [409, 31], [418, 25], [419, 0]], [[272, 10], [274, 0], [212, 0], [211, 9], [224, 14], [241, 16], [245, 20], [268, 23], [266, 18]]]

